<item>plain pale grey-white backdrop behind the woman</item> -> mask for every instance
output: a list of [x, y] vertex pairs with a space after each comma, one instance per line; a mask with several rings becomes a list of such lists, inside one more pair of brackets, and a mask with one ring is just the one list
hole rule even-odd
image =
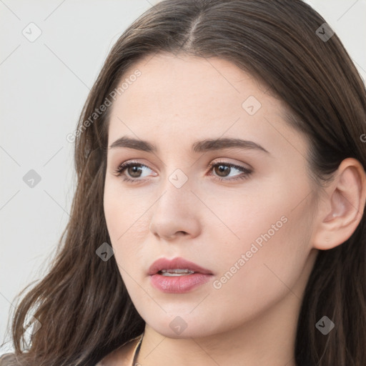
[[[44, 276], [69, 220], [74, 144], [66, 135], [114, 42], [157, 2], [0, 0], [0, 355], [14, 350], [6, 332], [14, 297]], [[366, 0], [306, 2], [365, 80]]]

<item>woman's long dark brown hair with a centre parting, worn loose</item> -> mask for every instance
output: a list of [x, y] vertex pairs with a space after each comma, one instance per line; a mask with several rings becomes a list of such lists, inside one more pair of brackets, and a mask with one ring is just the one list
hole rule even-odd
[[[310, 174], [319, 187], [347, 157], [366, 169], [365, 85], [325, 23], [300, 0], [166, 0], [124, 31], [81, 112], [76, 193], [59, 250], [16, 308], [11, 335], [21, 365], [94, 365], [144, 331], [114, 256], [104, 262], [96, 254], [110, 243], [103, 210], [110, 108], [85, 128], [142, 57], [219, 57], [262, 81], [289, 107], [287, 122], [309, 137]], [[365, 279], [364, 214], [347, 242], [318, 253], [297, 327], [298, 366], [366, 365]], [[41, 328], [24, 347], [24, 322], [33, 310]], [[315, 327], [324, 315], [336, 325], [326, 336]]]

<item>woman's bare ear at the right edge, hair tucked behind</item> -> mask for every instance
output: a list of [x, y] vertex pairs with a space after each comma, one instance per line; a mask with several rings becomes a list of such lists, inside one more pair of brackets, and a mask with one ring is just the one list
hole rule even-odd
[[313, 247], [332, 249], [349, 239], [361, 221], [365, 202], [365, 169], [357, 159], [344, 159], [318, 204]]

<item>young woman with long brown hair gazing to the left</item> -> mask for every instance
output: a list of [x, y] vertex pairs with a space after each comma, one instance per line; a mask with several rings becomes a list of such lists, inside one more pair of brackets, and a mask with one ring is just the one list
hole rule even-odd
[[71, 219], [0, 365], [366, 365], [366, 90], [310, 6], [159, 2], [74, 138]]

